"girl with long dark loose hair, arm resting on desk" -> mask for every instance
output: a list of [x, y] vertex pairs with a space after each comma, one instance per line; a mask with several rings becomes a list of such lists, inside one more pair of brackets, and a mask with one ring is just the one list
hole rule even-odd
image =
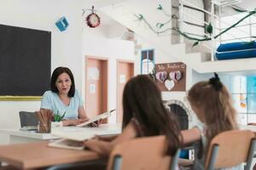
[[110, 141], [90, 139], [84, 141], [84, 145], [102, 156], [108, 156], [115, 144], [139, 137], [166, 135], [167, 154], [173, 156], [181, 147], [182, 137], [177, 121], [166, 111], [160, 90], [150, 77], [139, 75], [125, 84], [123, 113], [121, 134]]

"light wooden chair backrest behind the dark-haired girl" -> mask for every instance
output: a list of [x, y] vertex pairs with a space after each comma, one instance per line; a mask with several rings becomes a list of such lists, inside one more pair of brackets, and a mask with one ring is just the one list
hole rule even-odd
[[129, 140], [114, 147], [108, 161], [108, 170], [174, 170], [179, 150], [171, 157], [166, 155], [166, 149], [165, 136]]

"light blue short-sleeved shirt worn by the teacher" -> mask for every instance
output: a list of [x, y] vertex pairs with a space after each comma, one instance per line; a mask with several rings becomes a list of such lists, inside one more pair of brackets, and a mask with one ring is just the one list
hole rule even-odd
[[70, 99], [69, 105], [65, 105], [59, 98], [59, 95], [50, 90], [44, 93], [41, 101], [41, 108], [49, 109], [54, 114], [59, 112], [60, 115], [63, 115], [66, 111], [64, 119], [77, 119], [79, 117], [79, 107], [83, 105], [83, 101], [77, 90], [75, 90], [74, 96]]

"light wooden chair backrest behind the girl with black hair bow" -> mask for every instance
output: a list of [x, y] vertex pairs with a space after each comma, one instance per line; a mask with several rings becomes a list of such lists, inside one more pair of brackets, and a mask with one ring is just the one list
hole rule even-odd
[[206, 169], [236, 167], [247, 162], [249, 169], [253, 159], [254, 133], [250, 130], [231, 130], [219, 133], [209, 145], [206, 157]]

